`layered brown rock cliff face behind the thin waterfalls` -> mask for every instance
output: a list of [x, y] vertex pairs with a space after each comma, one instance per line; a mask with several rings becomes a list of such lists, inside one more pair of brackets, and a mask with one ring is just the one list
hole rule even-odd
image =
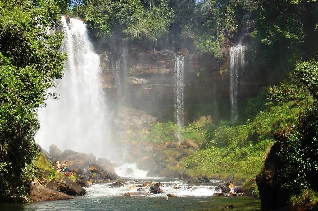
[[[184, 56], [184, 121], [200, 116], [211, 116], [213, 121], [230, 119], [230, 58], [224, 61], [204, 56], [189, 55], [187, 49], [178, 52]], [[120, 58], [111, 53], [100, 55], [102, 84], [108, 104], [114, 115], [119, 106], [144, 111], [159, 121], [174, 119], [174, 59], [171, 51], [154, 51]], [[259, 74], [245, 68], [238, 79], [239, 106], [247, 97], [255, 96], [264, 84]]]

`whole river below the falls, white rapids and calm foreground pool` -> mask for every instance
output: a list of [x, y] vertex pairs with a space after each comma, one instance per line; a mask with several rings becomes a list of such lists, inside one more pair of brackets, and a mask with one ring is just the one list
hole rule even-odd
[[[127, 167], [134, 168], [134, 173], [123, 177]], [[40, 201], [28, 204], [0, 204], [1, 210], [260, 210], [260, 200], [245, 196], [213, 196], [218, 191], [218, 184], [225, 185], [227, 181], [213, 180], [209, 183], [187, 183], [185, 180], [146, 177], [145, 171], [135, 168], [135, 164], [116, 168], [116, 173], [122, 181], [128, 183], [122, 187], [110, 188], [109, 183], [92, 184], [86, 189], [86, 195], [75, 196], [64, 201]], [[134, 179], [143, 181], [135, 182]], [[143, 188], [137, 196], [124, 196], [125, 193], [137, 193], [139, 187], [129, 189], [133, 184], [148, 181], [161, 182], [164, 193], [153, 195], [150, 188]], [[173, 189], [174, 187], [180, 187]], [[167, 194], [178, 197], [169, 197]], [[225, 208], [233, 205], [234, 208]]]

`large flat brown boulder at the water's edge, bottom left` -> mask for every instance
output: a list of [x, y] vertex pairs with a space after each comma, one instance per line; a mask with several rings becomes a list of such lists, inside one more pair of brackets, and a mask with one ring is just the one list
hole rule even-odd
[[32, 201], [53, 201], [62, 199], [73, 199], [64, 193], [49, 189], [42, 185], [32, 185], [30, 187], [30, 199]]

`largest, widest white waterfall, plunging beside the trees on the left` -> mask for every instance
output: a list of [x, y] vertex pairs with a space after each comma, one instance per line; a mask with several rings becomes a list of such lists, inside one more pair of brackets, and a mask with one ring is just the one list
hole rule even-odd
[[[39, 111], [38, 143], [48, 150], [55, 144], [60, 150], [93, 153], [110, 157], [110, 118], [100, 84], [99, 56], [94, 54], [86, 25], [62, 16], [64, 40], [61, 51], [67, 53], [65, 72], [57, 80], [58, 100], [47, 99]], [[108, 115], [108, 116], [107, 116]]]

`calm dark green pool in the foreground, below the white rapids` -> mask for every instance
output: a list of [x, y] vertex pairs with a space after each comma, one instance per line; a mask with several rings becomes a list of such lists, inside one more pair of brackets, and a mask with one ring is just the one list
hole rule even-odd
[[[233, 205], [229, 209], [225, 206]], [[1, 210], [259, 210], [260, 201], [244, 196], [144, 197], [77, 196], [64, 201], [41, 201], [29, 204], [0, 204]]]

